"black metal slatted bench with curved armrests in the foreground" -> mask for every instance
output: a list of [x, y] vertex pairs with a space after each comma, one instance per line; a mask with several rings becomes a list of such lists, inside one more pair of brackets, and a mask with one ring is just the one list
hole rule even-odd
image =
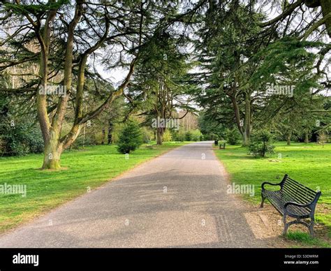
[[[279, 185], [281, 187], [278, 191], [269, 191], [265, 189], [265, 184], [272, 186]], [[276, 208], [276, 210], [283, 215], [284, 233], [287, 233], [288, 227], [292, 224], [302, 224], [309, 228], [309, 233], [314, 236], [314, 213], [318, 198], [321, 196], [321, 191], [314, 191], [307, 186], [291, 179], [288, 175], [284, 175], [283, 180], [279, 184], [272, 184], [270, 182], [263, 182], [262, 184], [262, 201], [260, 207], [263, 207], [265, 199]], [[294, 217], [296, 220], [286, 223], [286, 216]], [[311, 221], [308, 224], [301, 219], [308, 219]]]

